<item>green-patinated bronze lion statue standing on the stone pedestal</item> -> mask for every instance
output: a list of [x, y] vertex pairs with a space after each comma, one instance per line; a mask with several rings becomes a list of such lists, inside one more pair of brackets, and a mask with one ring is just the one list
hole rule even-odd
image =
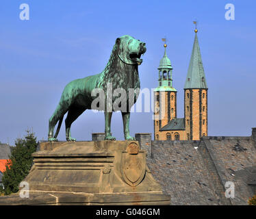
[[[104, 92], [104, 98], [102, 100], [104, 101], [103, 111], [105, 114], [105, 140], [116, 140], [111, 135], [110, 130], [112, 112], [116, 111], [112, 107], [112, 104], [116, 103], [116, 99], [120, 98], [120, 96], [113, 95], [110, 100], [109, 96], [107, 96], [107, 85], [111, 85], [112, 90], [121, 88], [126, 92], [125, 109], [123, 107], [123, 110], [120, 111], [123, 116], [125, 140], [134, 140], [129, 134], [129, 118], [132, 106], [129, 103], [136, 103], [138, 92], [132, 95], [133, 101], [129, 102], [131, 95], [129, 95], [128, 90], [131, 88], [134, 90], [140, 89], [138, 65], [142, 63], [140, 56], [145, 52], [146, 47], [144, 42], [127, 35], [117, 38], [112, 54], [110, 55], [110, 60], [101, 73], [76, 79], [66, 85], [62, 92], [60, 102], [49, 119], [48, 140], [50, 142], [57, 141], [57, 135], [60, 131], [64, 114], [68, 112], [65, 120], [66, 140], [75, 141], [75, 138], [71, 138], [71, 125], [85, 110], [94, 110], [92, 103], [98, 98], [92, 95], [94, 89], [103, 90]], [[107, 110], [107, 107], [110, 107], [111, 110]], [[59, 123], [56, 133], [53, 136], [54, 127], [57, 122]]]

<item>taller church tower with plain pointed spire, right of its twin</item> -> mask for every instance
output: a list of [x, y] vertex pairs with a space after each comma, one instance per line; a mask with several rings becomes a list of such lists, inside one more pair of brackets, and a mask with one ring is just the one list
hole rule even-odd
[[202, 136], [207, 136], [208, 88], [197, 38], [197, 29], [194, 32], [194, 45], [184, 86], [184, 122], [187, 138], [200, 140]]

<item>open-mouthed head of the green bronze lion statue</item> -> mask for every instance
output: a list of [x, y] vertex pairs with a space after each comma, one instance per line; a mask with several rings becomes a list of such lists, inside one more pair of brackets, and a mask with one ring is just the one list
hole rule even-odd
[[140, 56], [146, 52], [146, 43], [125, 35], [116, 39], [117, 54], [120, 60], [126, 64], [140, 65]]

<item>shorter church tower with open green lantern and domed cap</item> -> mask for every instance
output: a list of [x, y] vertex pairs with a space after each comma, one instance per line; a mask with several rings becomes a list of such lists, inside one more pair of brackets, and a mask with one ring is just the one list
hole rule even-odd
[[172, 65], [166, 55], [164, 44], [164, 57], [160, 60], [158, 69], [158, 87], [154, 90], [154, 131], [155, 140], [166, 139], [160, 131], [172, 118], [177, 117], [177, 90], [172, 87]]

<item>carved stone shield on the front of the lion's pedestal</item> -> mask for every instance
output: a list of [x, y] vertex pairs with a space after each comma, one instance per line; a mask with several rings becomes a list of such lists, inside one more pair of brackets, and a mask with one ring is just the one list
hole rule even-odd
[[122, 155], [121, 172], [125, 183], [131, 186], [138, 185], [146, 172], [145, 153], [139, 152], [139, 146], [131, 143]]

